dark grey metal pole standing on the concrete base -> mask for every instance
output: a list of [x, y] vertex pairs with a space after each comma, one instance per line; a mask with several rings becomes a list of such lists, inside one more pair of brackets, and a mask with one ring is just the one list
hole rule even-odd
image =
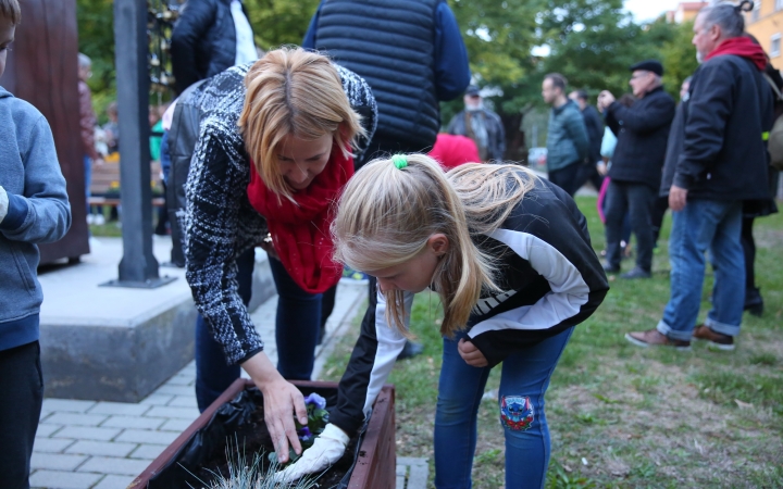
[[154, 288], [174, 278], [160, 278], [152, 254], [147, 0], [114, 0], [114, 41], [123, 258], [120, 279], [104, 285]]

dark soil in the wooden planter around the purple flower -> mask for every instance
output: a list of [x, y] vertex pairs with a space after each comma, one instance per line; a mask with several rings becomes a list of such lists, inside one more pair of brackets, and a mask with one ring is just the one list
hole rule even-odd
[[[336, 403], [336, 389], [323, 389], [322, 391], [313, 389], [303, 393], [307, 396], [311, 391], [315, 391], [326, 399], [327, 410]], [[225, 434], [223, 441], [215, 442], [213, 448], [209, 450], [210, 453], [206, 455], [206, 462], [200, 464], [200, 467], [197, 471], [194, 471], [194, 474], [202, 482], [209, 484], [217, 477], [217, 474], [227, 478], [229, 465], [228, 456], [231, 456], [234, 461], [244, 456], [245, 461], [250, 464], [258, 453], [262, 463], [260, 472], [265, 471], [270, 464], [268, 454], [274, 451], [274, 446], [269, 431], [266, 430], [266, 424], [264, 423], [263, 397], [257, 389], [248, 389], [245, 391], [244, 396], [240, 396], [240, 398], [241, 400], [239, 402], [235, 400], [231, 404], [243, 404], [241, 409], [245, 411], [244, 418], [238, 423], [235, 423], [236, 417], [228, 416], [226, 423], [223, 423], [224, 427], [228, 429], [221, 429], [221, 431]], [[214, 425], [219, 422], [221, 422], [221, 418], [220, 415], [216, 415], [212, 424]], [[214, 426], [211, 428], [214, 428]], [[336, 464], [319, 476], [315, 486], [316, 488], [327, 489], [348, 487], [347, 482], [349, 477], [346, 477], [346, 475], [351, 471], [353, 461], [356, 460], [358, 442], [359, 436], [355, 436], [349, 442], [345, 455], [343, 455]], [[229, 453], [231, 455], [228, 455]], [[345, 482], [345, 485], [341, 485], [341, 482]]]

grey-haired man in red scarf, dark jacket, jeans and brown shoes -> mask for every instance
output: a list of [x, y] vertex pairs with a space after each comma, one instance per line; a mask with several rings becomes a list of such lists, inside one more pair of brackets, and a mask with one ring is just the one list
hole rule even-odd
[[[661, 185], [673, 211], [671, 297], [656, 328], [625, 336], [641, 347], [689, 349], [694, 338], [733, 350], [739, 334], [743, 201], [767, 195], [765, 138], [774, 121], [772, 91], [762, 75], [767, 58], [744, 36], [742, 12], [748, 8], [753, 2], [747, 0], [707, 7], [694, 24], [701, 66], [672, 124]], [[694, 329], [708, 250], [714, 268], [712, 309]]]

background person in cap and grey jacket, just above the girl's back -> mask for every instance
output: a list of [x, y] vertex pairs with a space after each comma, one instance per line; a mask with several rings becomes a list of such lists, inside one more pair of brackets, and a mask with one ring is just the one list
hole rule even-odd
[[467, 136], [476, 143], [482, 161], [502, 161], [506, 130], [500, 116], [484, 106], [478, 87], [471, 85], [464, 95], [465, 109], [451, 117], [448, 134]]

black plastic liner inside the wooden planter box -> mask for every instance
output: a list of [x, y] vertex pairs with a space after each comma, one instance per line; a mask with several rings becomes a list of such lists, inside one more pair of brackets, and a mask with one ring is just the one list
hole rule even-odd
[[[311, 392], [326, 399], [327, 410], [337, 403], [336, 388], [308, 387], [307, 392], [303, 393], [307, 396]], [[253, 413], [260, 405], [263, 405], [263, 396], [256, 387], [241, 391], [233, 401], [223, 404], [212, 416], [212, 419], [196, 431], [174, 454], [172, 460], [150, 479], [147, 487], [149, 489], [191, 489], [202, 488], [208, 485], [209, 480], [203, 477], [201, 468], [213, 461], [216, 454], [225, 454], [226, 446], [235, 443], [237, 430], [252, 423]], [[261, 423], [263, 423], [263, 419], [261, 419]], [[330, 488], [348, 488], [348, 481], [353, 472], [365, 429], [366, 423], [359, 435], [348, 444], [345, 455], [333, 466], [336, 469], [343, 468], [347, 472], [339, 484], [333, 484], [328, 486]], [[241, 451], [241, 447], [239, 450]], [[246, 456], [252, 460], [253, 454], [246, 453]], [[320, 487], [326, 488], [323, 485]]]

